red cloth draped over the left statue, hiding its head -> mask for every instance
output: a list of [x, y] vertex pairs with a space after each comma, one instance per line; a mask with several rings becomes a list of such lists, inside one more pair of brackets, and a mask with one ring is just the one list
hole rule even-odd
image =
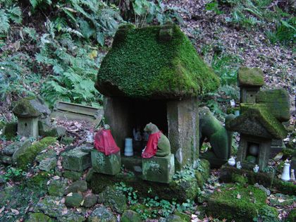
[[111, 134], [111, 130], [99, 130], [94, 137], [94, 148], [99, 152], [104, 153], [106, 156], [116, 154], [120, 151], [117, 147], [115, 140]]

